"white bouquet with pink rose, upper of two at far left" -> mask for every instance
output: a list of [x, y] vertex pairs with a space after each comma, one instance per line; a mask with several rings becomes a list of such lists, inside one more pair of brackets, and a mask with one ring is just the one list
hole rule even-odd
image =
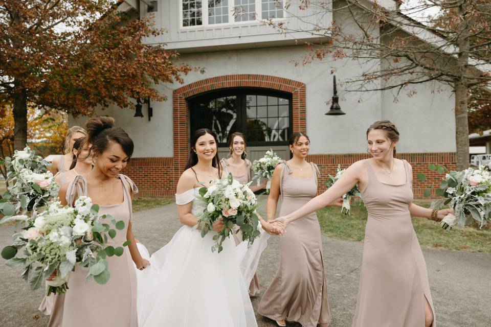
[[46, 169], [48, 162], [29, 147], [15, 150], [12, 158], [6, 157], [4, 162], [10, 184], [0, 200], [0, 211], [5, 216], [26, 214], [58, 195], [59, 185]]

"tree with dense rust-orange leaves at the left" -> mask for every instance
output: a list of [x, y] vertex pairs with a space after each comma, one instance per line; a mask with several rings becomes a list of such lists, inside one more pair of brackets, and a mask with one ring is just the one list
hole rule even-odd
[[96, 107], [163, 101], [160, 82], [191, 67], [163, 45], [151, 17], [125, 20], [111, 0], [0, 0], [0, 103], [13, 107], [15, 149], [27, 142], [28, 106], [89, 114]]

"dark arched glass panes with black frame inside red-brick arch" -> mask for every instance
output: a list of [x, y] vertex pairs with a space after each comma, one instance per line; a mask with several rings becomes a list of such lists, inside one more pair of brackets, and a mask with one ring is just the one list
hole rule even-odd
[[265, 89], [224, 89], [189, 100], [191, 131], [209, 128], [220, 146], [236, 131], [251, 146], [286, 145], [292, 133], [292, 95]]

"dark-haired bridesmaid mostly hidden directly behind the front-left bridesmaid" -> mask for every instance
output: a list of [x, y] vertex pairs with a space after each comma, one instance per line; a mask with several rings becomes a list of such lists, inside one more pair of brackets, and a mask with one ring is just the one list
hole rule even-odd
[[[91, 149], [86, 144], [86, 137], [77, 138], [73, 144], [72, 166], [69, 171], [58, 172], [55, 175], [55, 182], [59, 185], [72, 182], [76, 176], [85, 175], [92, 170]], [[44, 315], [51, 315], [48, 327], [61, 326], [61, 316], [63, 315], [64, 294], [53, 294], [44, 296], [39, 305], [39, 311]]]

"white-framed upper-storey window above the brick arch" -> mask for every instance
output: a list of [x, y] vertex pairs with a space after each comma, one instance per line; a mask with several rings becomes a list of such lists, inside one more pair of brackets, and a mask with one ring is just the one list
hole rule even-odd
[[181, 0], [181, 14], [184, 28], [284, 17], [283, 0]]

